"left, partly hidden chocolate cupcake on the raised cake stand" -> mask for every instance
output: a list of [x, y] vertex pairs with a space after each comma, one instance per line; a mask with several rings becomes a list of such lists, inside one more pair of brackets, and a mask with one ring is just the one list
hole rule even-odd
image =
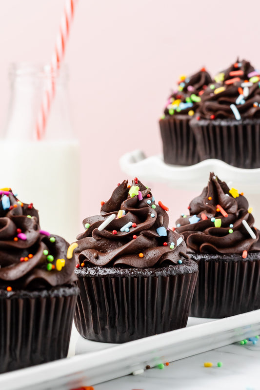
[[202, 68], [189, 78], [181, 76], [178, 91], [168, 98], [159, 122], [165, 163], [192, 165], [200, 161], [189, 122], [210, 82], [211, 76]]

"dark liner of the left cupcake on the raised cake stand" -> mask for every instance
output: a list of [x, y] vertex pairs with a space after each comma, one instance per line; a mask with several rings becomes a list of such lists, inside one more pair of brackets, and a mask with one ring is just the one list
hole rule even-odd
[[160, 120], [163, 158], [166, 164], [193, 165], [200, 162], [196, 139], [188, 115], [173, 115]]

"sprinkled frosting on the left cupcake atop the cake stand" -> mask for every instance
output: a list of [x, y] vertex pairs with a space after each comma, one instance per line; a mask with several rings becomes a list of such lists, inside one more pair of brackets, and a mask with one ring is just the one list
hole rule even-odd
[[190, 77], [181, 76], [178, 91], [168, 98], [164, 115], [191, 115], [197, 109], [200, 96], [210, 82], [212, 78], [204, 68]]

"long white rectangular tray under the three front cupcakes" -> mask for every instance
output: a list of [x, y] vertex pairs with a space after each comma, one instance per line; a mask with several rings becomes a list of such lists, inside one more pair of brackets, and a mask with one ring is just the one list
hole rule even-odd
[[0, 390], [76, 389], [219, 348], [260, 334], [260, 310], [220, 320], [190, 318], [188, 325], [112, 346], [84, 340], [74, 328], [70, 354], [80, 354], [1, 374]]

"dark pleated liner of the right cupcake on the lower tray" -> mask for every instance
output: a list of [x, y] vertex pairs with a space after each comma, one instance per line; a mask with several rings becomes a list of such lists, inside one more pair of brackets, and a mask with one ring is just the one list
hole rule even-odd
[[[214, 259], [210, 259], [210, 255], [201, 256], [197, 261], [199, 276], [191, 316], [224, 318], [260, 308], [259, 253], [229, 261], [216, 260], [216, 256]], [[190, 257], [196, 261], [196, 255]]]

